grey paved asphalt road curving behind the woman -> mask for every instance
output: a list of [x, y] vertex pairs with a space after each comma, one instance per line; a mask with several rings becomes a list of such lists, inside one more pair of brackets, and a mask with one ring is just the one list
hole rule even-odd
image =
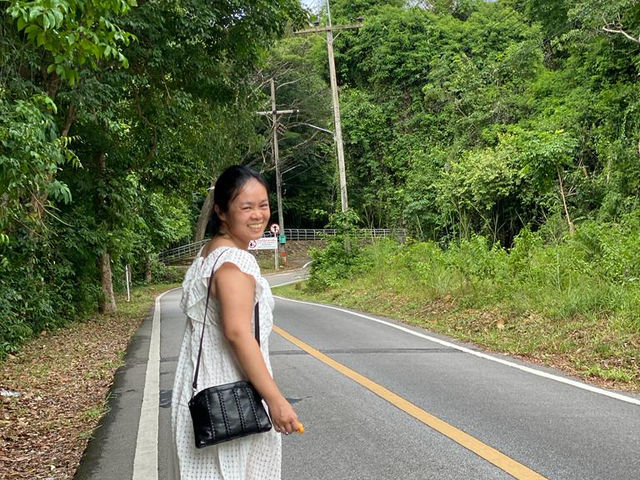
[[[271, 283], [292, 280], [278, 275]], [[179, 295], [163, 297], [159, 319], [161, 480], [171, 478], [170, 390], [184, 329]], [[271, 340], [276, 380], [307, 428], [283, 439], [284, 480], [513, 478], [505, 470], [516, 478], [640, 478], [638, 397], [612, 398], [564, 383], [567, 377], [550, 369], [495, 356], [507, 361], [499, 363], [421, 329], [376, 320], [277, 300], [282, 335], [304, 342], [277, 333]], [[77, 480], [132, 478], [151, 330], [146, 322], [134, 339]]]

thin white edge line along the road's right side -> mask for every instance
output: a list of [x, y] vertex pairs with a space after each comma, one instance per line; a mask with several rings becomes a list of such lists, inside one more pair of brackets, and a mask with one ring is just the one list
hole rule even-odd
[[[292, 283], [294, 283], [294, 282], [292, 282]], [[513, 362], [510, 362], [508, 360], [504, 360], [502, 358], [496, 358], [496, 357], [493, 357], [491, 355], [487, 355], [486, 353], [477, 352], [475, 350], [471, 350], [470, 348], [461, 347], [460, 345], [456, 345], [455, 343], [447, 342], [446, 340], [440, 340], [439, 338], [431, 337], [429, 335], [425, 335], [423, 333], [416, 332], [416, 331], [411, 330], [409, 328], [401, 327], [400, 325], [395, 325], [393, 323], [386, 322], [386, 321], [380, 320], [378, 318], [373, 318], [373, 317], [370, 317], [368, 315], [363, 315], [361, 313], [352, 312], [352, 311], [346, 310], [344, 308], [332, 307], [331, 305], [323, 305], [321, 303], [312, 303], [312, 302], [305, 302], [305, 301], [302, 301], [302, 300], [293, 300], [291, 298], [285, 298], [285, 297], [280, 297], [280, 296], [276, 296], [276, 298], [278, 298], [280, 300], [286, 300], [288, 302], [302, 303], [302, 304], [305, 304], [305, 305], [312, 305], [314, 307], [323, 307], [323, 308], [328, 308], [328, 309], [331, 309], [331, 310], [337, 310], [338, 312], [348, 313], [348, 314], [354, 315], [356, 317], [365, 318], [367, 320], [371, 320], [373, 322], [380, 323], [382, 325], [386, 325], [388, 327], [395, 328], [397, 330], [401, 330], [403, 332], [409, 333], [409, 334], [414, 335], [416, 337], [424, 338], [425, 340], [429, 340], [429, 341], [434, 342], [434, 343], [439, 343], [440, 345], [445, 346], [445, 347], [455, 348], [456, 350], [460, 350], [461, 352], [465, 352], [465, 353], [468, 353], [470, 355], [474, 355], [476, 357], [484, 358], [485, 360], [490, 360], [492, 362], [497, 362], [497, 363], [500, 363], [502, 365], [506, 365], [507, 367], [517, 368], [518, 370], [522, 370], [523, 372], [527, 372], [527, 373], [530, 373], [532, 375], [537, 375], [539, 377], [547, 378], [549, 380], [555, 380], [556, 382], [560, 382], [560, 383], [564, 383], [564, 384], [567, 384], [567, 385], [571, 385], [573, 387], [581, 388], [582, 390], [587, 390], [589, 392], [597, 393], [597, 394], [600, 394], [600, 395], [604, 395], [606, 397], [615, 398], [616, 400], [620, 400], [620, 401], [623, 401], [623, 402], [631, 403], [633, 405], [640, 405], [640, 399], [637, 399], [637, 398], [628, 397], [626, 395], [622, 395], [622, 394], [616, 393], [616, 392], [611, 392], [609, 390], [604, 390], [602, 388], [594, 387], [594, 386], [588, 385], [586, 383], [580, 383], [580, 382], [577, 382], [575, 380], [571, 380], [569, 378], [559, 377], [559, 376], [553, 375], [551, 373], [547, 373], [547, 372], [543, 372], [543, 371], [540, 371], [540, 370], [536, 370], [535, 368], [525, 367], [524, 365], [518, 365], [517, 363], [513, 363]]]

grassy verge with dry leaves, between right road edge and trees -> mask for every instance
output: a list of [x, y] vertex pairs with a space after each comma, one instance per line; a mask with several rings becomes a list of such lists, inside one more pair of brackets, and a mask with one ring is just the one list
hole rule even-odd
[[523, 232], [510, 252], [475, 238], [446, 250], [382, 242], [347, 255], [337, 241], [314, 254], [310, 281], [276, 292], [386, 315], [640, 392], [637, 227], [585, 225], [552, 244]]

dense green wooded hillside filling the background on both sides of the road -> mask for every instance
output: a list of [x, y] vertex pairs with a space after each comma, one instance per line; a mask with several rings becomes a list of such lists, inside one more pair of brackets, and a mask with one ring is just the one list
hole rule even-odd
[[336, 25], [362, 22], [335, 40], [346, 217], [325, 39], [293, 34], [307, 25], [295, 0], [3, 3], [0, 355], [115, 308], [127, 264], [161, 276], [157, 253], [201, 235], [225, 165], [275, 183], [256, 115], [271, 78], [277, 107], [299, 110], [279, 134], [287, 227], [402, 227], [413, 242], [389, 263], [318, 253], [318, 291], [386, 265], [429, 277], [429, 299], [614, 319], [638, 342], [640, 5], [331, 8]]

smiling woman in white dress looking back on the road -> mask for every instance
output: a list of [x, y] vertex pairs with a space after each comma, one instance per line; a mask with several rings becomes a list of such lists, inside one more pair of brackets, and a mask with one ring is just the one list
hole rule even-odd
[[[264, 179], [253, 170], [233, 166], [215, 185], [213, 238], [200, 251], [182, 284], [187, 314], [176, 378], [171, 420], [176, 470], [181, 480], [280, 479], [281, 437], [298, 429], [298, 419], [274, 382], [269, 362], [273, 297], [258, 264], [246, 248], [262, 236], [271, 212]], [[215, 269], [211, 290], [207, 285]], [[206, 296], [207, 312], [199, 388], [248, 379], [265, 400], [273, 429], [229, 442], [195, 448], [187, 406], [198, 356]], [[258, 303], [260, 346], [253, 332]]]

